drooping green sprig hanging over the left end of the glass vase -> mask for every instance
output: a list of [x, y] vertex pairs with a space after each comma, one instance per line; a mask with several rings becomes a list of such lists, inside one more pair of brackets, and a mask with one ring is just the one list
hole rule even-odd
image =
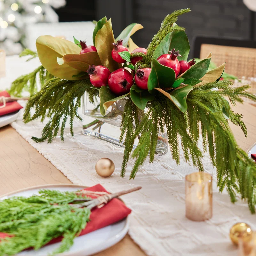
[[[99, 89], [94, 87], [89, 79], [70, 81], [52, 78], [38, 93], [30, 97], [24, 111], [24, 122], [28, 123], [37, 118], [41, 118], [43, 122], [45, 117], [49, 118], [42, 136], [32, 137], [32, 139], [36, 142], [48, 140], [48, 143], [51, 143], [60, 130], [60, 137], [63, 141], [68, 117], [70, 133], [74, 136], [73, 120], [76, 117], [82, 121], [77, 109], [80, 107], [81, 97], [85, 91], [88, 92], [89, 100], [93, 102], [94, 95], [99, 92]], [[35, 108], [35, 113], [30, 116], [32, 108]]]

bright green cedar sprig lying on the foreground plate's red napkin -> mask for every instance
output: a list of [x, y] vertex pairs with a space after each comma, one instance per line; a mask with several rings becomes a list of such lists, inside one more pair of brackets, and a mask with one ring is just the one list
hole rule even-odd
[[[0, 256], [16, 255], [27, 248], [38, 250], [53, 238], [63, 236], [53, 254], [67, 251], [85, 228], [90, 209], [69, 204], [81, 198], [74, 192], [41, 190], [40, 196], [14, 197], [0, 201]], [[56, 205], [58, 203], [58, 205]]]

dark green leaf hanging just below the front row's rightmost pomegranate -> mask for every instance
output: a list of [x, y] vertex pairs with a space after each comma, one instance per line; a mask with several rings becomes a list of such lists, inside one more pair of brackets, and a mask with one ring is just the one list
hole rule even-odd
[[141, 110], [146, 108], [148, 101], [155, 99], [155, 95], [150, 94], [147, 90], [140, 89], [136, 84], [132, 85], [130, 97], [133, 103]]

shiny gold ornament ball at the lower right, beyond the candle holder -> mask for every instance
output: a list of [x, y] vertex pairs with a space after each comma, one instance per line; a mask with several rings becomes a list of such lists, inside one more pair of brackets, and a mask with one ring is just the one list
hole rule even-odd
[[252, 240], [251, 227], [243, 222], [238, 222], [230, 229], [230, 239], [234, 244], [238, 244], [239, 239], [242, 239], [245, 243]]

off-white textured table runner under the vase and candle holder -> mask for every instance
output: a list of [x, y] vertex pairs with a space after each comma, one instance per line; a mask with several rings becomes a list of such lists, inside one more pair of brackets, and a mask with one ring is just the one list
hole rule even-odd
[[[23, 62], [17, 57], [7, 58], [7, 76], [0, 79], [0, 90], [10, 86], [13, 79], [33, 70], [38, 64], [37, 60]], [[16, 72], [15, 66], [19, 66], [19, 72]], [[140, 191], [122, 198], [132, 209], [129, 234], [148, 255], [233, 256], [237, 255], [237, 250], [229, 239], [231, 226], [244, 221], [256, 228], [255, 215], [250, 213], [247, 203], [239, 200], [232, 204], [226, 191], [222, 194], [218, 192], [215, 170], [208, 156], [204, 157], [203, 164], [205, 171], [214, 177], [213, 217], [205, 222], [194, 222], [185, 217], [184, 177], [197, 170], [186, 163], [182, 152], [179, 166], [172, 161], [169, 152], [156, 157], [154, 164], [148, 164], [147, 161], [135, 180], [129, 180], [132, 160], [125, 178], [120, 177], [122, 148], [84, 136], [82, 124], [77, 120], [74, 122], [74, 138], [70, 137], [67, 127], [64, 142], [56, 138], [51, 144], [35, 143], [31, 136], [39, 137], [44, 125], [39, 121], [24, 124], [21, 117], [12, 123], [12, 127], [24, 139], [73, 183], [87, 186], [100, 183], [111, 192], [142, 186]], [[108, 178], [102, 178], [95, 172], [95, 163], [101, 157], [108, 157], [115, 163], [115, 172]]]

